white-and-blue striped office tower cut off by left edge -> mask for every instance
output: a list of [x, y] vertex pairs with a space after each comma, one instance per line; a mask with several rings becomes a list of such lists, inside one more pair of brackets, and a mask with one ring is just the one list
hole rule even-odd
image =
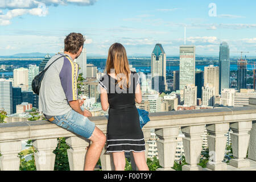
[[0, 78], [0, 110], [13, 114], [13, 84]]

